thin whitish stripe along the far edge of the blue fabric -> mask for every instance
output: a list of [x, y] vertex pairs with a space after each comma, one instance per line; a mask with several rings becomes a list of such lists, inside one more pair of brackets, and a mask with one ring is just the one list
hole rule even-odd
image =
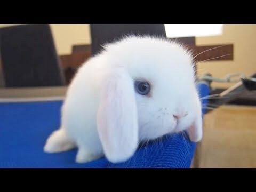
[[1, 102], [40, 102], [40, 101], [62, 101], [65, 97], [33, 97], [33, 98], [0, 98]]

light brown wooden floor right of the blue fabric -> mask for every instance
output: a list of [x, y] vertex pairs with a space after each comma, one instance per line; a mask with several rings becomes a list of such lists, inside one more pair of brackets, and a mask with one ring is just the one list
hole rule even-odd
[[256, 107], [215, 109], [203, 133], [191, 167], [256, 167]]

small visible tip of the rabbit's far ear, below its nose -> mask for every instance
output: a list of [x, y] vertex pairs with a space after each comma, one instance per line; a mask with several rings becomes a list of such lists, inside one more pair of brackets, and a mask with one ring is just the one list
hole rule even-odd
[[198, 113], [193, 124], [190, 125], [187, 129], [190, 141], [198, 142], [202, 139], [202, 135], [203, 135], [202, 123], [203, 121], [202, 121], [201, 113]]

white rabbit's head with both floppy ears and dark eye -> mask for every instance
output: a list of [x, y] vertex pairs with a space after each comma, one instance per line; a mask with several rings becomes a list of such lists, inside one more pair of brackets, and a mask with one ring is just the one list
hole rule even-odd
[[201, 102], [191, 54], [162, 38], [126, 37], [105, 45], [98, 132], [106, 157], [126, 161], [140, 140], [186, 130], [202, 138]]

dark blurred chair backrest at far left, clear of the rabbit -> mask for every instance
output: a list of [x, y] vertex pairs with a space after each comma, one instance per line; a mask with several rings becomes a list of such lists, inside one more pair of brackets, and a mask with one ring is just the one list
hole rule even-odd
[[64, 85], [65, 77], [47, 24], [0, 28], [0, 54], [5, 87]]

